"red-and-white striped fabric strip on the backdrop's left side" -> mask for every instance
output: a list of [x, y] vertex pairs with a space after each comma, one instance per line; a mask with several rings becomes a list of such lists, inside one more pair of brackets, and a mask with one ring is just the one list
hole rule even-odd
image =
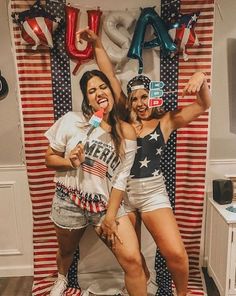
[[[11, 1], [11, 12], [28, 10], [34, 1]], [[11, 13], [10, 13], [11, 15]], [[21, 30], [13, 24], [13, 38], [23, 118], [25, 158], [33, 211], [33, 295], [48, 295], [57, 274], [57, 239], [49, 213], [54, 195], [54, 171], [45, 167], [48, 146], [44, 132], [54, 123], [49, 49], [21, 45]]]

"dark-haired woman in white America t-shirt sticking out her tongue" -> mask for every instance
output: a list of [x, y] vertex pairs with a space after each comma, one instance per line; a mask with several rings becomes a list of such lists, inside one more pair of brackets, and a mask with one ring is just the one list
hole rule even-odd
[[[58, 239], [58, 279], [51, 296], [63, 295], [74, 251], [89, 224], [112, 250], [125, 273], [129, 295], [147, 295], [138, 240], [122, 200], [136, 152], [136, 135], [118, 118], [114, 92], [98, 70], [80, 80], [82, 113], [68, 112], [45, 133], [46, 165], [56, 170], [51, 219]], [[104, 110], [91, 132], [89, 119]]]

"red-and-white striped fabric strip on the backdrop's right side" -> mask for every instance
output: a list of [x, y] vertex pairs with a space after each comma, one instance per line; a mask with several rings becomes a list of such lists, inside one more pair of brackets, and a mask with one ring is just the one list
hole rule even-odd
[[[181, 13], [200, 11], [195, 32], [200, 46], [188, 48], [189, 60], [179, 57], [178, 106], [194, 101], [194, 96], [181, 97], [184, 84], [193, 72], [207, 74], [211, 84], [214, 0], [181, 0]], [[189, 289], [193, 295], [204, 295], [199, 269], [201, 234], [205, 198], [208, 112], [181, 128], [176, 139], [175, 215], [189, 256]]]

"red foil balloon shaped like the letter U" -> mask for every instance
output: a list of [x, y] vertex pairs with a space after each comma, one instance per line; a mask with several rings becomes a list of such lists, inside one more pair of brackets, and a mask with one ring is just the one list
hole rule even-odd
[[[79, 11], [77, 8], [66, 6], [66, 52], [71, 59], [78, 60], [73, 70], [74, 75], [82, 62], [93, 58], [93, 47], [91, 43], [88, 43], [84, 50], [77, 49], [75, 45], [76, 24]], [[88, 10], [87, 13], [89, 28], [98, 34], [102, 12], [100, 10]]]

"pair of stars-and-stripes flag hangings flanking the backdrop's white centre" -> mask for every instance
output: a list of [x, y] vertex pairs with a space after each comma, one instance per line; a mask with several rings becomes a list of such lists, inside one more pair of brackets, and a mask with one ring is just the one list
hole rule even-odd
[[[64, 0], [62, 0], [64, 1]], [[46, 3], [49, 12], [60, 17], [64, 14], [62, 1]], [[11, 0], [12, 12], [29, 9], [35, 1]], [[168, 90], [178, 93], [166, 94], [165, 107], [168, 110], [184, 106], [194, 100], [188, 96], [181, 98], [181, 90], [196, 70], [208, 75], [211, 83], [212, 36], [214, 20], [214, 0], [162, 0], [161, 17], [167, 20], [169, 4], [181, 13], [200, 11], [195, 32], [200, 46], [188, 49], [189, 59], [181, 55], [172, 58], [161, 56], [161, 80]], [[69, 59], [64, 47], [64, 28], [54, 35], [52, 50], [38, 46], [37, 50], [22, 45], [21, 30], [12, 24], [13, 44], [17, 65], [19, 97], [24, 128], [24, 147], [29, 188], [33, 210], [34, 246], [34, 286], [32, 295], [48, 295], [57, 275], [57, 240], [52, 222], [48, 218], [54, 195], [54, 171], [46, 169], [44, 154], [48, 146], [44, 132], [53, 122], [72, 109], [71, 77]], [[174, 133], [169, 141], [162, 167], [167, 180], [171, 202], [175, 208], [190, 261], [189, 289], [192, 295], [204, 295], [199, 258], [203, 220], [205, 169], [207, 159], [208, 112]], [[69, 272], [67, 295], [79, 295], [77, 284], [76, 252]], [[171, 295], [171, 279], [165, 262], [156, 255], [157, 295]]]

